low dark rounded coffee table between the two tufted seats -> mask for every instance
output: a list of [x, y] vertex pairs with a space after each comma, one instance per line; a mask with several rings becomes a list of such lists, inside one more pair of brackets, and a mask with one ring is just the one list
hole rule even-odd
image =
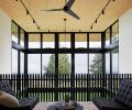
[[73, 101], [73, 106], [66, 107], [65, 101], [58, 101], [48, 106], [47, 110], [84, 110], [84, 107], [76, 101]]

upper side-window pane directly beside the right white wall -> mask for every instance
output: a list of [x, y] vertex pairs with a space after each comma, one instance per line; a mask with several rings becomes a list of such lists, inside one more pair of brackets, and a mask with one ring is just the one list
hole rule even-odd
[[112, 43], [119, 41], [119, 22], [112, 25]]

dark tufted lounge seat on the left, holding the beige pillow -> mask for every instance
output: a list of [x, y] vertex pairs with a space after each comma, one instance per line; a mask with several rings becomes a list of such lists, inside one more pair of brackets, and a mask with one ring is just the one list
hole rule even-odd
[[[12, 90], [9, 81], [0, 81], [0, 90], [6, 91], [15, 97], [15, 94]], [[19, 99], [19, 102], [20, 106], [16, 108], [9, 108], [0, 105], [0, 110], [32, 110], [38, 102], [38, 97], [36, 96], [36, 97]]]

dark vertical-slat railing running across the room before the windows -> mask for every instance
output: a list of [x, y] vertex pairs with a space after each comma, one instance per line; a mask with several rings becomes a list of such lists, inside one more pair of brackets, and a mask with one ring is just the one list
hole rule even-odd
[[89, 101], [94, 97], [113, 98], [120, 81], [132, 80], [132, 74], [58, 75], [57, 81], [54, 74], [0, 75], [0, 80], [10, 81], [18, 98], [38, 95], [40, 101], [48, 102], [64, 100], [69, 94], [77, 101]]

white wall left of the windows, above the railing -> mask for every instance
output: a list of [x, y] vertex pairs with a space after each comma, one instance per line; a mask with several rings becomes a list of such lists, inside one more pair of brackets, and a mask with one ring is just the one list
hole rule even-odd
[[0, 10], [0, 74], [11, 74], [11, 19]]

